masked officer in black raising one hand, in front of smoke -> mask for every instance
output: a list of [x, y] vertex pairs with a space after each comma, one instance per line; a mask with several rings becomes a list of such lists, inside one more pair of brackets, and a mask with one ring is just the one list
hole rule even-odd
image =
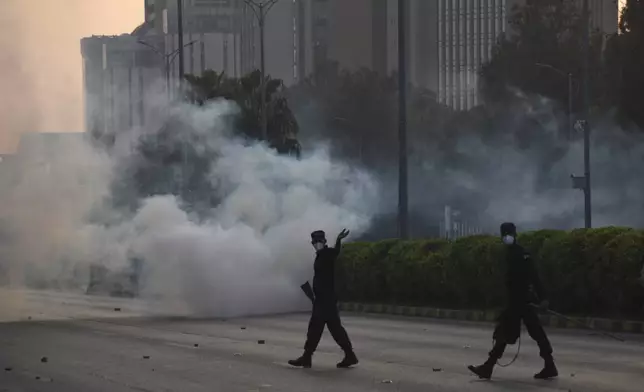
[[338, 234], [334, 248], [329, 248], [326, 236], [322, 230], [311, 233], [311, 244], [315, 248], [315, 264], [313, 266], [313, 312], [309, 321], [309, 330], [304, 345], [304, 354], [295, 360], [288, 361], [291, 366], [310, 368], [311, 358], [317, 349], [324, 326], [344, 351], [344, 359], [337, 364], [338, 368], [348, 368], [358, 363], [353, 352], [351, 340], [340, 321], [338, 300], [335, 295], [335, 261], [340, 254], [342, 239], [349, 235], [348, 230]]

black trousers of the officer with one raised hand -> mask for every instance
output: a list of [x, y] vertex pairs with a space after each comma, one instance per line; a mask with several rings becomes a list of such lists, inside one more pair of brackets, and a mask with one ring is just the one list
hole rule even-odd
[[309, 330], [306, 334], [304, 352], [307, 355], [312, 355], [315, 352], [322, 338], [325, 325], [329, 328], [329, 332], [331, 332], [331, 336], [333, 336], [338, 346], [345, 352], [350, 352], [352, 350], [351, 340], [349, 340], [349, 335], [342, 326], [342, 321], [340, 321], [337, 301], [318, 299], [313, 302], [313, 312], [309, 321]]

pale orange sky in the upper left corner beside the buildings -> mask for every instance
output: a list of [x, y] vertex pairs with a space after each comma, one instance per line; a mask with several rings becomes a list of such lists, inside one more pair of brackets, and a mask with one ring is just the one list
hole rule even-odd
[[0, 153], [22, 132], [83, 131], [80, 39], [142, 21], [142, 0], [2, 0]]

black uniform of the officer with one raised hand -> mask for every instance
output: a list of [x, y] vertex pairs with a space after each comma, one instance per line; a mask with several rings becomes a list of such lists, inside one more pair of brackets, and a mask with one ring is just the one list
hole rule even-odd
[[340, 248], [324, 247], [317, 252], [313, 269], [313, 312], [309, 321], [309, 330], [304, 345], [305, 353], [312, 355], [317, 349], [324, 326], [345, 352], [352, 351], [351, 341], [347, 331], [340, 321], [338, 300], [335, 295], [335, 261], [340, 254]]

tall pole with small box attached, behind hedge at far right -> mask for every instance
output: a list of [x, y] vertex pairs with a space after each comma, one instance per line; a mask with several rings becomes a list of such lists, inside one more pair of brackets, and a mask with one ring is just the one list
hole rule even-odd
[[592, 227], [590, 197], [590, 11], [588, 0], [584, 0], [584, 35], [582, 44], [583, 63], [583, 131], [584, 131], [584, 221], [586, 229]]

